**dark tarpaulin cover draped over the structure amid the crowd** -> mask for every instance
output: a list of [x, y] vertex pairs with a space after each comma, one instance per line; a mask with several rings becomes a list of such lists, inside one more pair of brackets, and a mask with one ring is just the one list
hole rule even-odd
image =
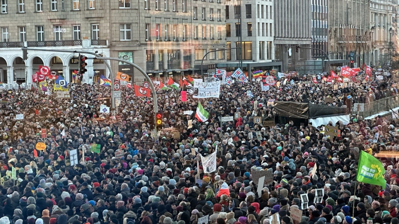
[[288, 118], [313, 119], [345, 114], [345, 108], [312, 103], [275, 101], [273, 112]]

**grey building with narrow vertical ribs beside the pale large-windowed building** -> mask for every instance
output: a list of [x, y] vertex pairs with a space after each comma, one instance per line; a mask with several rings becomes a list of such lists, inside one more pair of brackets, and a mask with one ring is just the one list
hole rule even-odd
[[310, 0], [274, 1], [275, 58], [282, 61], [283, 71], [294, 71], [298, 61], [310, 60], [310, 22], [312, 20]]

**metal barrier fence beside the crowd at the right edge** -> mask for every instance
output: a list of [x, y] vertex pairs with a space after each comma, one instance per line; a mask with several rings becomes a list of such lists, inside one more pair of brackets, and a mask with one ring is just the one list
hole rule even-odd
[[[379, 100], [371, 101], [364, 104], [364, 111], [359, 112], [359, 115], [363, 118], [378, 114], [383, 111], [389, 111], [395, 107], [399, 107], [399, 96], [389, 96]], [[352, 113], [357, 114], [356, 108], [352, 107]]]

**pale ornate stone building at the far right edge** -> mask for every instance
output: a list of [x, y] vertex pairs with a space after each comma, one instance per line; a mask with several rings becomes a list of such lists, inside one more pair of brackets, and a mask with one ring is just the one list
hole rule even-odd
[[389, 66], [392, 61], [397, 38], [396, 7], [397, 0], [370, 1], [371, 65]]

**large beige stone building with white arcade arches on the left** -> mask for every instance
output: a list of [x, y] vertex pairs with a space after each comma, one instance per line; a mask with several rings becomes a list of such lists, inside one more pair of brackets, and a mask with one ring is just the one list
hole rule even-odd
[[[98, 51], [136, 63], [152, 78], [199, 74], [203, 56], [226, 47], [223, 1], [0, 0], [0, 81], [32, 82], [39, 65], [71, 81], [78, 69], [76, 53], [28, 51], [24, 61], [23, 46]], [[109, 76], [103, 61], [87, 56], [83, 82]], [[225, 60], [224, 51], [209, 53], [204, 70]], [[111, 68], [144, 79], [129, 65], [111, 61]]]

